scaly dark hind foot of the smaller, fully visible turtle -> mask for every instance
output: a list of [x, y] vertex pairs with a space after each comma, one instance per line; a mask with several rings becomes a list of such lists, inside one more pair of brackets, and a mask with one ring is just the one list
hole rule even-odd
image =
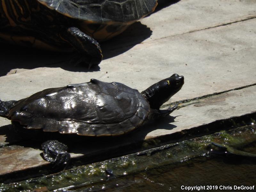
[[46, 161], [53, 163], [53, 167], [59, 169], [65, 169], [70, 161], [70, 154], [68, 153], [68, 147], [57, 141], [48, 140], [42, 143], [43, 157]]

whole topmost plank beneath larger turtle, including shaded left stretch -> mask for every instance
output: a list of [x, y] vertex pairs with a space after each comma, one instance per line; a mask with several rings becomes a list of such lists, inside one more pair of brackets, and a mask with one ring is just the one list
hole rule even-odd
[[[159, 1], [165, 2], [166, 7], [163, 8], [162, 5], [161, 8], [156, 9], [156, 12], [136, 22], [120, 36], [102, 43], [103, 52], [124, 47], [129, 50], [130, 46], [141, 42], [212, 28], [256, 16], [254, 0], [203, 2], [200, 0], [180, 0], [178, 3], [172, 0]], [[3, 70], [0, 71], [1, 76], [9, 71], [10, 74], [14, 74], [58, 62], [60, 63], [55, 64], [55, 66], [62, 66], [64, 69], [70, 70], [68, 59], [71, 56], [67, 53], [42, 52], [26, 48], [17, 49], [14, 46], [2, 46], [0, 50], [1, 63], [5, 64]], [[113, 53], [108, 53], [104, 55], [104, 58], [111, 55]]]

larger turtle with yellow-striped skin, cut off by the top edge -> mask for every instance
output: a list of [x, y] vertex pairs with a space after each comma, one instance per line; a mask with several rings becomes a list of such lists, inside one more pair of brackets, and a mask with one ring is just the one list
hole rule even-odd
[[156, 1], [0, 0], [0, 38], [47, 50], [74, 48], [81, 53], [77, 62], [84, 61], [90, 67], [102, 60], [97, 41], [122, 33], [153, 12]]

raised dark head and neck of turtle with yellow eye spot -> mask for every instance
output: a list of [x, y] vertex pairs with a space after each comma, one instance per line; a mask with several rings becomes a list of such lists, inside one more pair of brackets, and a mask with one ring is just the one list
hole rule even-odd
[[163, 103], [168, 101], [172, 95], [177, 93], [184, 84], [184, 77], [178, 74], [163, 79], [141, 92], [148, 100], [150, 108], [159, 109]]

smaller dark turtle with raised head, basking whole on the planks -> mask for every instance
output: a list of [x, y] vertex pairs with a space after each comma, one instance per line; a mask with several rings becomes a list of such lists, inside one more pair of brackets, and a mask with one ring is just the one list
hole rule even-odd
[[[88, 83], [45, 89], [19, 101], [0, 101], [0, 116], [12, 120], [16, 129], [84, 136], [123, 135], [148, 119], [168, 116], [177, 105], [159, 108], [183, 84], [184, 77], [173, 74], [140, 93], [121, 83], [91, 79]], [[65, 164], [69, 160], [67, 147], [56, 140], [43, 143], [42, 148], [48, 161]]]

